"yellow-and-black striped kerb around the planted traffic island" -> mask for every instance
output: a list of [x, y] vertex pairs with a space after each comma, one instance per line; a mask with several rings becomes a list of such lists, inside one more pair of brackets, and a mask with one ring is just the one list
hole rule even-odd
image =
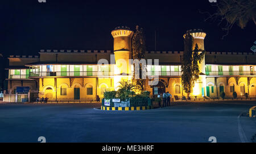
[[154, 109], [153, 106], [131, 106], [131, 107], [101, 106], [101, 110], [108, 110], [108, 111], [134, 111], [134, 110], [150, 110], [150, 109]]

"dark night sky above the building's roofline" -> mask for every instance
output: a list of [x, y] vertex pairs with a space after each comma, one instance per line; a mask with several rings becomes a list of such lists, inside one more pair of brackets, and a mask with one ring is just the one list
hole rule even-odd
[[215, 9], [208, 0], [200, 1], [57, 1], [6, 0], [0, 4], [0, 53], [37, 55], [40, 49], [111, 49], [110, 34], [115, 27], [144, 28], [148, 51], [183, 51], [183, 34], [192, 28], [206, 33], [205, 50], [250, 52], [256, 28], [234, 25], [229, 35], [218, 21], [207, 20]]

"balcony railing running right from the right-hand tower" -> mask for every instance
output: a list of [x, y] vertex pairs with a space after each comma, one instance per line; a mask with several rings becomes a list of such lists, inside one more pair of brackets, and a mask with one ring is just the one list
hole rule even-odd
[[211, 71], [205, 72], [207, 76], [256, 76], [253, 71]]

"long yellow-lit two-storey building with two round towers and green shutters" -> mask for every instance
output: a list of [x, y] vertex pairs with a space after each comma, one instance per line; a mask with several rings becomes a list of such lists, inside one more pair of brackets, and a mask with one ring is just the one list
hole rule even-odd
[[[40, 56], [10, 56], [5, 101], [35, 101], [37, 95], [50, 101], [95, 101], [97, 95], [103, 97], [106, 89], [116, 89], [118, 81], [131, 80], [133, 68], [127, 61], [131, 59], [133, 31], [118, 27], [111, 34], [114, 51], [47, 49], [40, 50]], [[197, 43], [204, 49], [206, 34], [202, 30], [189, 30], [184, 36], [187, 34], [193, 36], [193, 46]], [[148, 85], [146, 79], [144, 87], [151, 95], [169, 91], [179, 98], [186, 96], [181, 86], [182, 56], [183, 51], [146, 52], [146, 60], [159, 59], [158, 65], [147, 65], [148, 76], [159, 74], [157, 85]], [[101, 65], [99, 60], [108, 65]], [[221, 91], [228, 97], [233, 91], [238, 97], [245, 93], [255, 97], [256, 53], [207, 51], [199, 65], [200, 79], [192, 97], [220, 97]]]

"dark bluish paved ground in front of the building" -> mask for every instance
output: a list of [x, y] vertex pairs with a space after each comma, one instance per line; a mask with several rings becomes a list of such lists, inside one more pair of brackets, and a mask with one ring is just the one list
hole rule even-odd
[[[0, 142], [241, 142], [256, 119], [238, 115], [256, 102], [181, 103], [143, 111], [101, 111], [96, 103], [0, 104]], [[238, 120], [241, 128], [238, 129]]]

